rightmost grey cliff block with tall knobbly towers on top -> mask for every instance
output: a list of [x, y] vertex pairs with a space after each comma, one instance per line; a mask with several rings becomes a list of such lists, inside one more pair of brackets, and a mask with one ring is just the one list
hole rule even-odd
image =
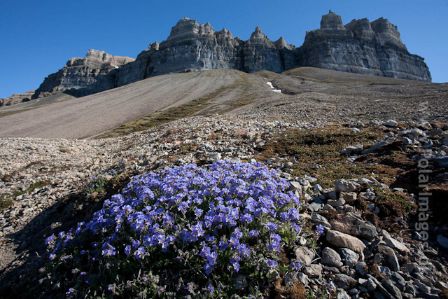
[[321, 29], [307, 32], [296, 55], [301, 66], [431, 81], [423, 58], [410, 54], [397, 27], [383, 18], [352, 20], [344, 26], [330, 11], [323, 15]]

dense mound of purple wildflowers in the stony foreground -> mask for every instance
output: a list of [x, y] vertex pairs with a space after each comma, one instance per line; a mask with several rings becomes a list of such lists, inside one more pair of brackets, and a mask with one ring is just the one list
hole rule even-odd
[[92, 221], [59, 236], [57, 248], [57, 237], [48, 237], [47, 244], [56, 248], [50, 258], [66, 240], [89, 234], [98, 236], [97, 243], [81, 253], [96, 258], [144, 260], [170, 251], [183, 260], [181, 252], [195, 249], [209, 275], [217, 265], [238, 272], [261, 252], [265, 265], [278, 267], [282, 235], [300, 231], [300, 201], [277, 174], [262, 163], [218, 161], [207, 168], [183, 165], [135, 176]]

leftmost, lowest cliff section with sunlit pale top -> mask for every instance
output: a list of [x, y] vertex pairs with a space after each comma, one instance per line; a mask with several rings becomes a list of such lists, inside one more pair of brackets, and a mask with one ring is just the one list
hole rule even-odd
[[33, 99], [58, 91], [83, 96], [115, 88], [118, 68], [133, 61], [130, 57], [89, 50], [85, 57], [71, 58], [65, 67], [45, 78], [34, 93]]

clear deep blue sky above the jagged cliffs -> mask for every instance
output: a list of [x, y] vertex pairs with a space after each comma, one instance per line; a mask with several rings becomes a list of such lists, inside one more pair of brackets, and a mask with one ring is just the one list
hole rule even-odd
[[243, 40], [260, 26], [273, 41], [283, 36], [301, 46], [305, 32], [317, 29], [329, 9], [344, 24], [387, 18], [409, 52], [425, 58], [433, 82], [448, 81], [448, 0], [1, 0], [0, 97], [38, 88], [90, 48], [137, 57], [149, 43], [167, 39], [183, 17], [210, 22], [215, 30], [226, 27]]

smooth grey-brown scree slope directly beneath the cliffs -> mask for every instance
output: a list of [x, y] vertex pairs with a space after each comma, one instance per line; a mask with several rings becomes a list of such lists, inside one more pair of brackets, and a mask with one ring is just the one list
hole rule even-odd
[[[271, 91], [269, 81], [281, 94]], [[0, 137], [113, 137], [197, 114], [245, 111], [296, 120], [319, 116], [326, 122], [423, 116], [446, 121], [447, 89], [447, 84], [310, 67], [282, 74], [228, 69], [168, 74], [86, 97], [59, 94], [8, 107], [0, 111]]]

